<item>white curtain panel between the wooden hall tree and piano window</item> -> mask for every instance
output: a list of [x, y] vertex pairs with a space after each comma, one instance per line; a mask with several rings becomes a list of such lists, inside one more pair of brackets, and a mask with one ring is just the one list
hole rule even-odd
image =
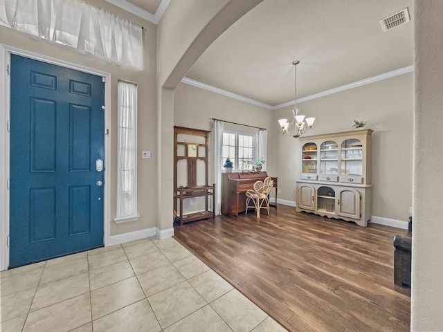
[[223, 122], [214, 121], [213, 127], [213, 182], [215, 183], [215, 215], [221, 214], [221, 147], [223, 146]]

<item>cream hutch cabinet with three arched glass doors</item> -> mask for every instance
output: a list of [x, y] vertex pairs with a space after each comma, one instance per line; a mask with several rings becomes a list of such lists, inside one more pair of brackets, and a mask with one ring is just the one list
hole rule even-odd
[[299, 138], [297, 212], [368, 225], [372, 193], [371, 134], [371, 129], [361, 129]]

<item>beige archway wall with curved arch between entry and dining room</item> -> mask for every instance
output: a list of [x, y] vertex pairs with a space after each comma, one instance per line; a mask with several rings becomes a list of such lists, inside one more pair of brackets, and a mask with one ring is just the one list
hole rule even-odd
[[262, 0], [170, 2], [158, 26], [157, 227], [172, 228], [174, 89], [221, 33]]

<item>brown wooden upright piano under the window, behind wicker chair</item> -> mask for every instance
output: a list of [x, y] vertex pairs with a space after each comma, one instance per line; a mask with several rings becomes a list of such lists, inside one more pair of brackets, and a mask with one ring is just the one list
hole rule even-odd
[[[221, 174], [221, 214], [238, 219], [238, 214], [246, 211], [246, 190], [253, 189], [255, 181], [264, 181], [266, 172], [240, 172]], [[272, 177], [275, 187], [275, 204], [277, 208], [277, 178]]]

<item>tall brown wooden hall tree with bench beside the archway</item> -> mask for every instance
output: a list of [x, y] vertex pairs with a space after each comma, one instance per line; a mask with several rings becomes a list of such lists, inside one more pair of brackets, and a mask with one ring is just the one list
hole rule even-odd
[[[177, 218], [180, 225], [215, 216], [215, 184], [208, 184], [209, 133], [206, 130], [174, 126], [174, 210], [177, 211], [179, 205]], [[184, 163], [184, 167], [180, 168], [182, 172], [179, 171], [179, 163]], [[204, 199], [204, 210], [192, 210], [191, 200], [200, 198]], [[189, 200], [189, 205], [185, 209], [186, 200]]]

